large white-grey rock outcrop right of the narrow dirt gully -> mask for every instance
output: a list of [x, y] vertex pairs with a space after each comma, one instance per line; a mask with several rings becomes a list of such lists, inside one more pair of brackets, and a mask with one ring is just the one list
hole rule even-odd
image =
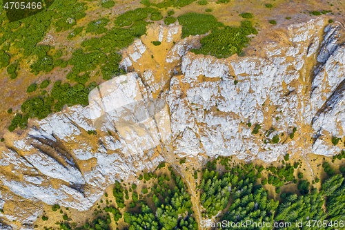
[[[175, 153], [266, 162], [286, 153], [339, 153], [329, 134], [343, 135], [344, 28], [334, 23], [322, 35], [323, 25], [314, 19], [289, 26], [288, 42], [270, 43], [253, 57], [184, 55], [183, 74], [172, 77], [168, 98]], [[261, 132], [253, 134], [248, 122]], [[294, 127], [298, 136], [290, 139]], [[268, 142], [275, 135], [279, 143]]]

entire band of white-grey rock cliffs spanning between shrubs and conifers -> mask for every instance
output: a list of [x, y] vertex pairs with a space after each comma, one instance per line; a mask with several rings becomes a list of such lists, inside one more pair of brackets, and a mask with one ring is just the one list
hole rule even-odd
[[[188, 50], [199, 47], [199, 37], [180, 35], [179, 26], [150, 28], [124, 50], [121, 65], [133, 73], [95, 90], [89, 106], [65, 108], [30, 121], [26, 131], [6, 134], [0, 146], [0, 208], [23, 199], [38, 212], [23, 208], [0, 217], [32, 222], [41, 202], [89, 209], [115, 180], [131, 180], [174, 153], [191, 160], [237, 155], [272, 162], [286, 153], [342, 150], [342, 144], [331, 143], [344, 135], [341, 23], [294, 24], [281, 41], [260, 45], [257, 55], [228, 59], [194, 55]], [[150, 45], [152, 40], [161, 47]], [[129, 90], [126, 97], [112, 87], [121, 82]], [[124, 106], [130, 99], [135, 105]], [[159, 115], [150, 112], [157, 99], [166, 102]], [[137, 116], [141, 109], [143, 119]], [[120, 118], [130, 125], [121, 125]]]

